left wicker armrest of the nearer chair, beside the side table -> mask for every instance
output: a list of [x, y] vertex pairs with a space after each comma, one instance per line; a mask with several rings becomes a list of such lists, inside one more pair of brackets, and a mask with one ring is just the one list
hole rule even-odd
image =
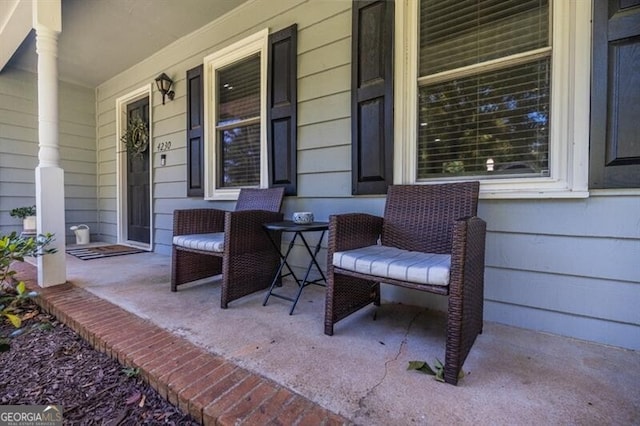
[[382, 233], [382, 218], [367, 213], [346, 213], [329, 217], [329, 259], [337, 251], [377, 244]]

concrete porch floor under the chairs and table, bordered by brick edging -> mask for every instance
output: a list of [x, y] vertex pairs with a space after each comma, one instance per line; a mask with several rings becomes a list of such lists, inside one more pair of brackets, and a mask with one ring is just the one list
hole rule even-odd
[[262, 292], [222, 310], [217, 279], [172, 293], [170, 262], [155, 253], [68, 255], [68, 281], [353, 424], [640, 424], [636, 351], [485, 322], [466, 377], [451, 386], [406, 369], [444, 358], [441, 314], [372, 306], [329, 337], [324, 288], [306, 288], [292, 316], [285, 300], [263, 307]]

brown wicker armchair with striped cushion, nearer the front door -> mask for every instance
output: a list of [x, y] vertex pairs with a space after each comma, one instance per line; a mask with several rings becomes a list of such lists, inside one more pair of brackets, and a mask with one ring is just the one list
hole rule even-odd
[[[236, 210], [175, 210], [171, 291], [222, 274], [220, 306], [271, 284], [280, 261], [262, 228], [283, 218], [283, 188], [240, 190]], [[280, 235], [274, 234], [274, 241]]]

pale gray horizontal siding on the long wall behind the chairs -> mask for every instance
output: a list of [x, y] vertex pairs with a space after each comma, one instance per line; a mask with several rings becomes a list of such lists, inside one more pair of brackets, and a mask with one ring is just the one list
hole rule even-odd
[[[172, 211], [233, 203], [186, 197], [185, 74], [202, 59], [264, 27], [298, 24], [298, 196], [285, 216], [311, 210], [381, 214], [384, 197], [351, 196], [351, 4], [249, 2], [98, 88], [98, 206], [101, 231], [116, 236], [115, 100], [166, 72], [176, 99], [154, 90], [153, 144], [171, 141], [167, 165], [154, 152], [155, 247], [170, 253]], [[482, 200], [488, 222], [485, 318], [640, 349], [640, 195], [585, 200]], [[287, 243], [285, 236], [284, 243]], [[326, 251], [320, 253], [325, 262]], [[301, 250], [294, 264], [306, 262]], [[446, 308], [446, 299], [383, 288], [385, 300]]]

